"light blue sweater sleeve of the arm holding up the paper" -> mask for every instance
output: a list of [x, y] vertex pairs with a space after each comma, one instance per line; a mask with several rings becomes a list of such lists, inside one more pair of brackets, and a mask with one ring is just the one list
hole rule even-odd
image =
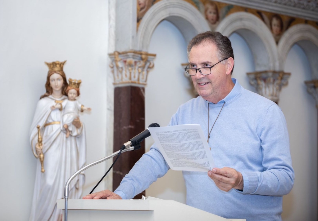
[[288, 194], [294, 185], [285, 117], [278, 105], [271, 105], [259, 129], [264, 171], [242, 172], [242, 193], [267, 196]]

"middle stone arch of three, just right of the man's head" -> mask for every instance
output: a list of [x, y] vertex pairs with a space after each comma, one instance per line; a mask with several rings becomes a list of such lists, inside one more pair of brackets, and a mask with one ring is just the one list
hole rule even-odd
[[216, 31], [225, 36], [233, 32], [242, 36], [252, 51], [256, 71], [278, 70], [278, 53], [273, 35], [255, 15], [247, 12], [233, 13], [222, 20]]

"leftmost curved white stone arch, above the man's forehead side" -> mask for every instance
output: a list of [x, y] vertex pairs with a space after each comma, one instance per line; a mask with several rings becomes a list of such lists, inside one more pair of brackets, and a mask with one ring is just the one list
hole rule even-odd
[[137, 50], [148, 51], [152, 33], [166, 19], [173, 23], [188, 43], [200, 32], [210, 30], [207, 21], [193, 5], [183, 0], [162, 0], [144, 15], [137, 32]]

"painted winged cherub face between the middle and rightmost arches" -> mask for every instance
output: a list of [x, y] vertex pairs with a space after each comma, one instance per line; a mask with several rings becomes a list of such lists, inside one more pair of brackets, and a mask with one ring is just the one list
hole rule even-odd
[[278, 43], [282, 34], [290, 27], [291, 23], [295, 20], [295, 18], [289, 18], [286, 21], [278, 14], [273, 14], [271, 19], [269, 19], [263, 12], [257, 11], [259, 16], [262, 18], [263, 22], [267, 25], [269, 30], [271, 30], [273, 37]]

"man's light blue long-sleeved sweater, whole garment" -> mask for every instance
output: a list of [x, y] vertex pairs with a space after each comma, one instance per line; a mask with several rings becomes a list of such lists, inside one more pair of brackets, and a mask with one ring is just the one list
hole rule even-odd
[[[218, 189], [206, 172], [183, 171], [186, 203], [224, 218], [281, 220], [283, 195], [294, 184], [285, 117], [274, 102], [245, 90], [236, 79], [232, 91], [217, 104], [210, 103], [209, 146], [218, 168], [241, 172], [243, 191]], [[200, 124], [208, 131], [208, 102], [201, 96], [182, 104], [169, 125]], [[155, 145], [123, 178], [115, 193], [133, 198], [162, 177], [169, 166]]]

